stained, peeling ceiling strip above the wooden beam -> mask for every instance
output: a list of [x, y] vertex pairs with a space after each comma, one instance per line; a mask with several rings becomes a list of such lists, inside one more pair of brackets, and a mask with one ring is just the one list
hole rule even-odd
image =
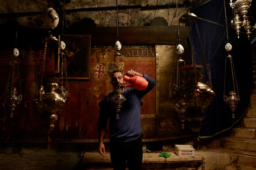
[[[215, 0], [222, 2], [223, 0]], [[247, 0], [250, 1], [250, 0]], [[18, 3], [19, 2], [19, 3]], [[179, 15], [188, 9], [195, 11], [198, 6], [207, 4], [207, 0], [16, 0], [3, 1], [0, 6], [0, 28], [43, 28], [41, 16], [48, 7], [53, 7], [60, 17], [58, 27], [72, 28], [79, 26], [114, 27], [116, 26], [116, 9], [118, 8], [119, 26], [149, 26], [154, 17], [163, 17], [169, 26], [177, 25], [175, 21], [178, 3]], [[224, 1], [223, 1], [224, 2]], [[226, 9], [230, 0], [225, 1]], [[118, 4], [118, 6], [116, 5]], [[212, 6], [211, 8], [214, 8]], [[64, 10], [63, 10], [64, 9]], [[216, 15], [210, 13], [207, 15]], [[230, 15], [230, 13], [227, 13]], [[128, 18], [127, 18], [128, 16]], [[167, 17], [168, 16], [168, 17]], [[251, 17], [251, 26], [255, 26], [256, 5], [252, 1], [247, 16]], [[203, 17], [201, 17], [203, 19]], [[225, 17], [221, 17], [222, 20]], [[85, 23], [84, 19], [87, 19]], [[129, 21], [128, 21], [129, 19]], [[18, 21], [18, 24], [17, 24]], [[62, 22], [63, 21], [63, 22]], [[245, 30], [242, 31], [243, 33]], [[256, 29], [252, 30], [251, 39], [255, 38]]]

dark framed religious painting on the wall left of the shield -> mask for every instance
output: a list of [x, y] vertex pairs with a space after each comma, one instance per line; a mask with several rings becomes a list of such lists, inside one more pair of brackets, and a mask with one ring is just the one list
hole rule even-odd
[[90, 79], [91, 35], [59, 35], [59, 42], [58, 70], [63, 77]]

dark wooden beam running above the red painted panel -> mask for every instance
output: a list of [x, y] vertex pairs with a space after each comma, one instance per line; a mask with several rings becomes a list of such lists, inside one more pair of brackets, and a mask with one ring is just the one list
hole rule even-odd
[[[179, 26], [180, 42], [185, 42], [190, 26]], [[117, 27], [68, 28], [64, 34], [91, 35], [92, 45], [113, 45], [117, 41]], [[172, 44], [178, 42], [178, 26], [118, 27], [118, 40], [126, 45]]]

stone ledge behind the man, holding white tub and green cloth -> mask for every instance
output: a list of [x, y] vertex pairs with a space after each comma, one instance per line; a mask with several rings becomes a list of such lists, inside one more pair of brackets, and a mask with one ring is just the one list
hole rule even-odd
[[[195, 151], [195, 157], [179, 157], [174, 151], [170, 151], [169, 158], [159, 157], [160, 152], [143, 153], [142, 167], [147, 168], [183, 168], [194, 167], [200, 169], [225, 169], [225, 166], [237, 162], [237, 150], [232, 149], [200, 149]], [[109, 152], [106, 157], [102, 157], [96, 152], [86, 152], [82, 158], [82, 163], [87, 166], [87, 170], [110, 170], [111, 161]], [[103, 168], [104, 167], [104, 168]]]

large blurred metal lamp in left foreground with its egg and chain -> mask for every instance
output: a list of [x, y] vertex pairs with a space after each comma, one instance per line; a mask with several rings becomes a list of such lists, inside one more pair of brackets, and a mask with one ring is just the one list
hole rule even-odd
[[[53, 8], [48, 8], [44, 12], [43, 21], [46, 29], [54, 29], [59, 23], [59, 16]], [[54, 129], [54, 123], [58, 119], [56, 113], [65, 104], [62, 94], [56, 92], [59, 88], [58, 82], [60, 80], [58, 78], [58, 73], [53, 71], [44, 71], [47, 43], [58, 43], [58, 40], [51, 35], [51, 30], [49, 31], [49, 34], [50, 35], [44, 40], [43, 62], [39, 72], [41, 76], [39, 92], [33, 98], [33, 104], [39, 112], [43, 129], [46, 134], [48, 134], [48, 149], [50, 149], [51, 141], [49, 134]]]

